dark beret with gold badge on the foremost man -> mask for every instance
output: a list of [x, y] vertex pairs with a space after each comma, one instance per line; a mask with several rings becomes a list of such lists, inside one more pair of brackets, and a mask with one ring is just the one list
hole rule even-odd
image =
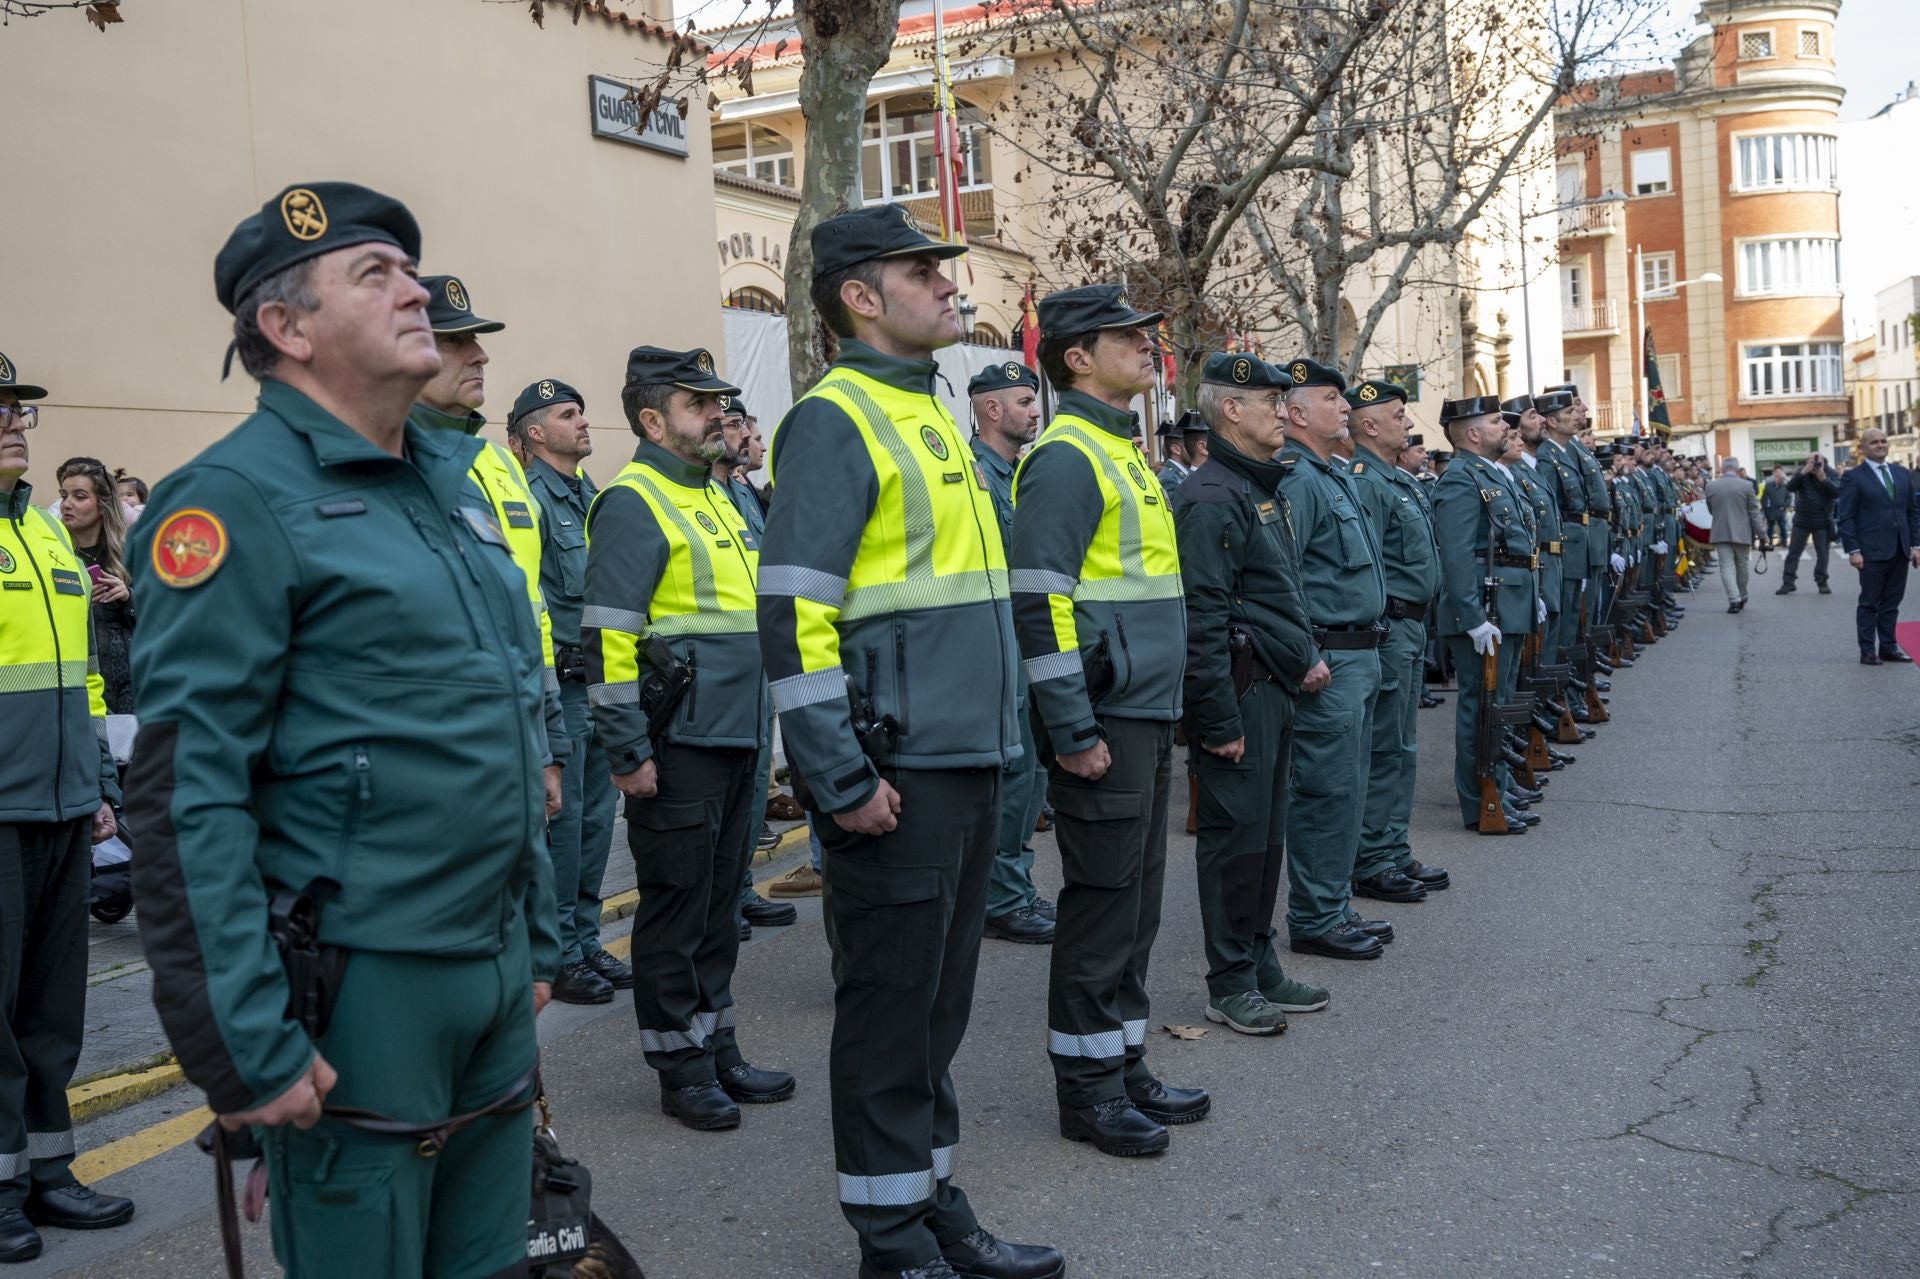
[[399, 200], [353, 182], [288, 186], [227, 236], [213, 294], [234, 311], [269, 275], [353, 244], [392, 244], [419, 261], [420, 225]]

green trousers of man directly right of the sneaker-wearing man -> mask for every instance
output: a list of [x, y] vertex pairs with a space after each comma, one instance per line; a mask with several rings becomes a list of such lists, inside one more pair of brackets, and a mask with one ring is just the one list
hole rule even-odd
[[1294, 699], [1294, 768], [1286, 795], [1286, 931], [1321, 937], [1346, 918], [1371, 762], [1379, 649], [1323, 653], [1332, 682]]

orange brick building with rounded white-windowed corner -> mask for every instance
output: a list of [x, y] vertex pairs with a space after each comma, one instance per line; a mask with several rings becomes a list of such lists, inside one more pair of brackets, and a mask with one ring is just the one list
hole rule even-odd
[[1611, 119], [1559, 140], [1565, 371], [1605, 434], [1640, 421], [1642, 309], [1680, 447], [1759, 472], [1843, 434], [1837, 12], [1707, 0], [1670, 71], [1582, 86]]

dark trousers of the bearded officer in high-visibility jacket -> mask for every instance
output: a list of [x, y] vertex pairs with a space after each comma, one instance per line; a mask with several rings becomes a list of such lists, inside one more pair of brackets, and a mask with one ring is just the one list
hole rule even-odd
[[647, 1066], [680, 1089], [737, 1066], [733, 964], [739, 960], [743, 828], [766, 803], [756, 751], [666, 743], [660, 787], [626, 799], [639, 905], [634, 908], [634, 1018]]

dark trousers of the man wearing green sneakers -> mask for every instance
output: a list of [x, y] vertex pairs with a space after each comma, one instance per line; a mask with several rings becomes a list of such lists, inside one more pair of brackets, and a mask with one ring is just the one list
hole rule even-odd
[[[1273, 910], [1286, 839], [1286, 772], [1294, 753], [1294, 699], [1261, 680], [1240, 699], [1246, 749], [1240, 762], [1192, 749], [1200, 833], [1200, 931], [1206, 989], [1225, 997], [1281, 979]], [[1192, 736], [1188, 734], [1188, 741]]]

